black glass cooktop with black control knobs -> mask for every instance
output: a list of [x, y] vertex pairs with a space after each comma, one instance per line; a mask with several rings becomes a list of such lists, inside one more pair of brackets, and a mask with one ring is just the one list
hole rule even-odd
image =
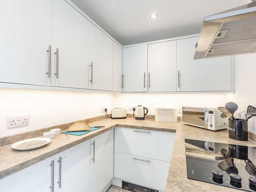
[[188, 178], [256, 191], [256, 148], [185, 139]]

